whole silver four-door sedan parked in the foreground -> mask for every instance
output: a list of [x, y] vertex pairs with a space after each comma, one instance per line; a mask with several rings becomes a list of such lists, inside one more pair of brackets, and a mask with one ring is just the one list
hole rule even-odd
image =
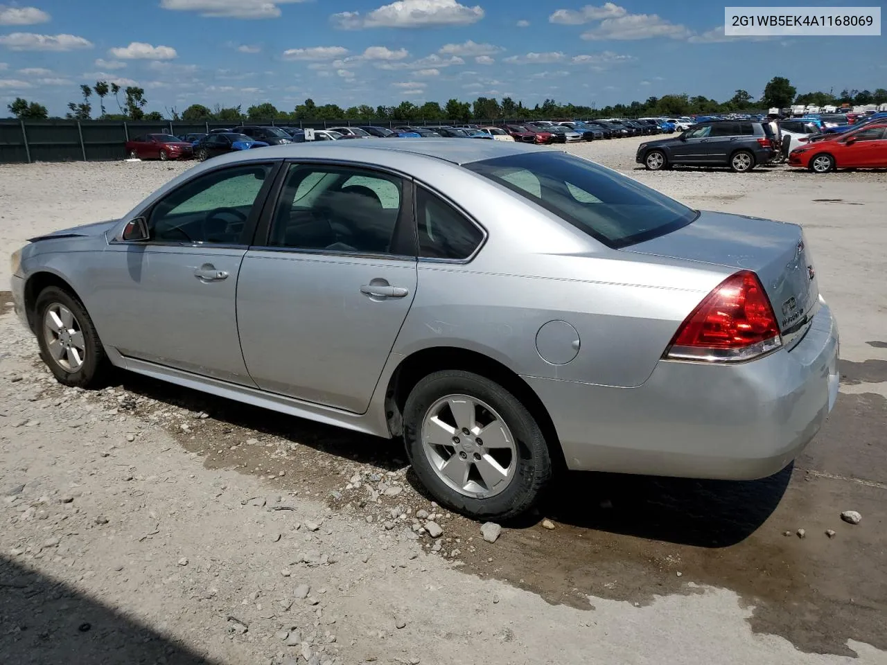
[[526, 511], [557, 462], [774, 473], [837, 394], [800, 227], [518, 143], [230, 155], [12, 263], [61, 383], [114, 365], [403, 437], [431, 494], [481, 518]]

